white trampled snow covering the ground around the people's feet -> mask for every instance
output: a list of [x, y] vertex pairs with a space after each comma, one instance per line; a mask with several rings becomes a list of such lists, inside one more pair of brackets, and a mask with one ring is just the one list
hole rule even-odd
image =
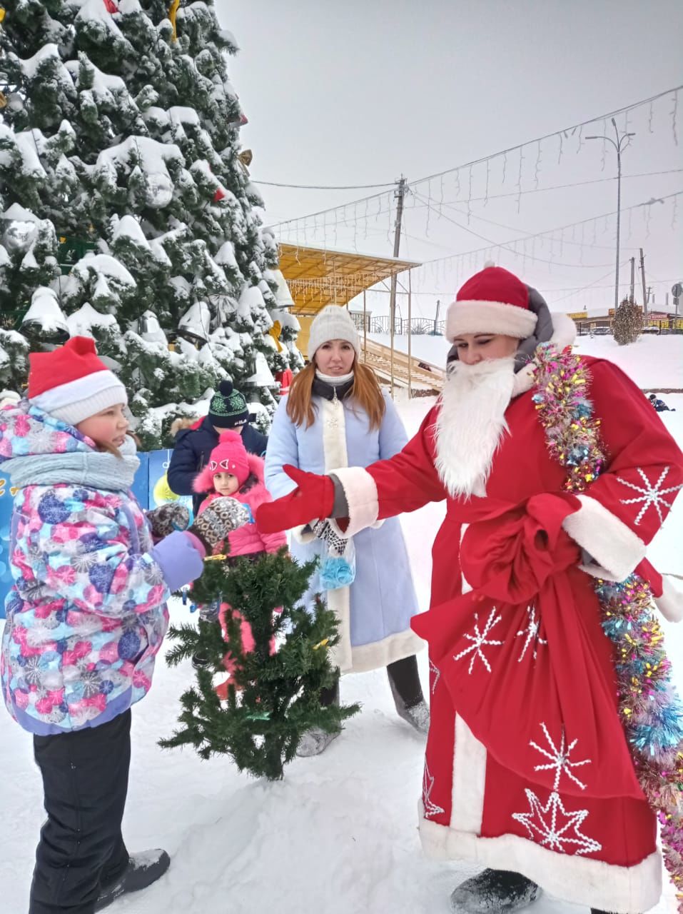
[[[658, 367], [653, 364], [653, 370]], [[665, 421], [683, 444], [683, 395], [670, 399], [678, 412], [665, 414]], [[409, 432], [430, 403], [417, 399], [400, 404]], [[443, 507], [427, 505], [403, 521], [425, 607], [430, 547], [442, 514]], [[652, 549], [659, 569], [683, 573], [681, 533], [683, 497]], [[176, 603], [172, 616], [181, 621], [187, 611]], [[683, 689], [683, 626], [669, 626], [667, 635]], [[421, 664], [426, 681], [424, 652]], [[157, 739], [173, 728], [178, 696], [192, 675], [189, 664], [172, 670], [161, 660], [152, 692], [133, 712], [124, 834], [131, 849], [163, 845], [173, 865], [161, 882], [137, 898], [121, 899], [112, 911], [447, 914], [451, 889], [475, 870], [428, 862], [421, 854], [416, 802], [423, 744], [395, 716], [384, 673], [344, 679], [343, 698], [361, 701], [362, 713], [323, 756], [296, 760], [285, 781], [277, 784], [240, 775], [226, 759], [206, 762], [191, 750], [164, 752], [157, 747]], [[4, 914], [24, 914], [43, 819], [41, 792], [31, 740], [4, 712], [0, 771], [0, 908]], [[653, 910], [665, 914], [674, 906], [667, 888], [667, 898]], [[533, 911], [585, 914], [586, 909], [546, 897]]]

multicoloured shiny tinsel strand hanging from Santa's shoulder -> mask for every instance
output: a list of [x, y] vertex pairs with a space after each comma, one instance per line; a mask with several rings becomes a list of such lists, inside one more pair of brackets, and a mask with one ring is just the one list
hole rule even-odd
[[[569, 474], [564, 487], [581, 492], [602, 472], [600, 420], [587, 397], [590, 372], [570, 347], [536, 351], [533, 401], [554, 460]], [[671, 680], [664, 635], [652, 593], [637, 575], [597, 580], [602, 625], [615, 644], [619, 714], [638, 781], [657, 813], [664, 862], [683, 914], [683, 705]]]

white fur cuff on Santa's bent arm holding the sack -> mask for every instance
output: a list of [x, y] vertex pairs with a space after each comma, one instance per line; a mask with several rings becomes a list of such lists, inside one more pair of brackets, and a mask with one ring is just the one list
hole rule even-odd
[[596, 499], [589, 495], [578, 498], [581, 507], [564, 518], [563, 528], [604, 569], [605, 578], [624, 580], [645, 558], [645, 543]]

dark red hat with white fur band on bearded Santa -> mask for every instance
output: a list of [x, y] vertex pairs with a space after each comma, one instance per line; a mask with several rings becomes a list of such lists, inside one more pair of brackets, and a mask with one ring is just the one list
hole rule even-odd
[[526, 339], [536, 327], [529, 309], [529, 289], [514, 273], [487, 264], [475, 273], [448, 305], [445, 335], [449, 343], [462, 334], [501, 334]]

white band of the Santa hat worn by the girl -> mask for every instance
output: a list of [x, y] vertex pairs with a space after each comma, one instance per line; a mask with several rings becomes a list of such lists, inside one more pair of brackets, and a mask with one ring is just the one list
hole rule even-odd
[[111, 371], [94, 371], [77, 377], [67, 384], [45, 390], [30, 400], [32, 406], [42, 409], [67, 425], [78, 425], [89, 416], [95, 416], [110, 406], [128, 403], [126, 388]]

